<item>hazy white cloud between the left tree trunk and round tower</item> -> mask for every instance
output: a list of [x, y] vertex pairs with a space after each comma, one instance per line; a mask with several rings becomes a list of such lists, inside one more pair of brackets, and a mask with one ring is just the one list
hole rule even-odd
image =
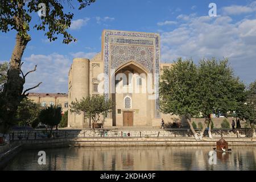
[[38, 88], [31, 92], [63, 92], [68, 91], [68, 71], [72, 60], [64, 55], [52, 53], [50, 55], [34, 55], [24, 57], [22, 70], [24, 73], [30, 71], [37, 64], [35, 72], [26, 77], [24, 89], [31, 88], [39, 82], [43, 82]]

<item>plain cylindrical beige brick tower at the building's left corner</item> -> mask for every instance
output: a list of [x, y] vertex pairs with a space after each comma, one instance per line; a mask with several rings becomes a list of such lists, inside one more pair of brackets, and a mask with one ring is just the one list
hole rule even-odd
[[[71, 71], [69, 71], [69, 104], [89, 96], [89, 59], [75, 58]], [[89, 122], [84, 118], [84, 113], [75, 114], [69, 110], [68, 125], [71, 127], [89, 127]]]

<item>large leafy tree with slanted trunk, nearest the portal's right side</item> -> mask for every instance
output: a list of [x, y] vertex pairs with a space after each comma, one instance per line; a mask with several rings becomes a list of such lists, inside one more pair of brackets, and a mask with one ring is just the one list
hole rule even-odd
[[184, 115], [196, 140], [191, 115], [199, 115], [197, 96], [197, 67], [192, 60], [177, 59], [170, 69], [164, 69], [160, 77], [160, 110], [165, 114]]

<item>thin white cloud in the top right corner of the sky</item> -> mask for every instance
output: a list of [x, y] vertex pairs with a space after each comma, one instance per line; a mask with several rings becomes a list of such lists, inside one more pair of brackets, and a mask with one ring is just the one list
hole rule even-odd
[[250, 3], [250, 5], [246, 6], [226, 6], [222, 8], [224, 15], [240, 15], [240, 14], [248, 14], [256, 11], [256, 1]]

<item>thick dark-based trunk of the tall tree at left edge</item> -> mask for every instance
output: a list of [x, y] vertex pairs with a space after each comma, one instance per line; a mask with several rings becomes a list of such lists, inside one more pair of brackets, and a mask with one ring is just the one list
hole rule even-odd
[[5, 116], [2, 117], [3, 122], [7, 123], [4, 127], [10, 128], [15, 125], [16, 110], [24, 98], [22, 96], [24, 79], [20, 77], [20, 63], [29, 41], [30, 37], [24, 38], [19, 34], [16, 35], [16, 44], [10, 59], [10, 69], [7, 72], [7, 81], [2, 92], [3, 109], [5, 110]]

